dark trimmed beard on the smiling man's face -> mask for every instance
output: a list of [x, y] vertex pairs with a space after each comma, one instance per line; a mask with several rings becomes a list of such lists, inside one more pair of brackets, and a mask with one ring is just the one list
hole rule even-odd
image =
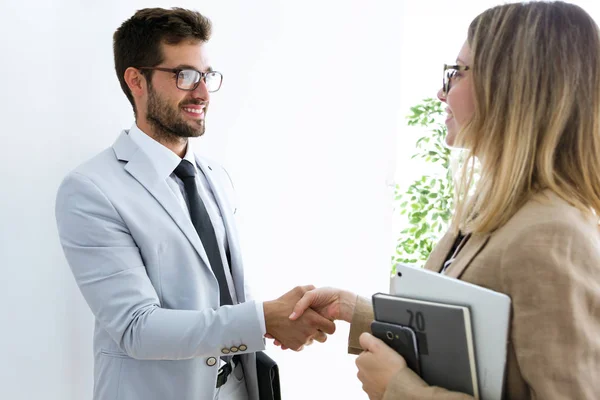
[[[186, 104], [198, 105], [202, 103], [202, 101], [190, 100]], [[179, 111], [179, 108], [174, 109], [169, 103], [161, 99], [151, 86], [148, 87], [146, 116], [158, 138], [169, 141], [169, 139], [198, 137], [204, 134], [204, 118], [198, 119], [194, 122], [194, 125], [190, 125], [183, 119]], [[204, 113], [206, 115], [206, 107]]]

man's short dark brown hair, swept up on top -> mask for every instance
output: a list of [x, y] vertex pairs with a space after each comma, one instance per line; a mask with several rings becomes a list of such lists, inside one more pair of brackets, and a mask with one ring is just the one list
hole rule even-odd
[[[161, 44], [176, 45], [192, 40], [207, 42], [210, 39], [211, 22], [196, 11], [174, 7], [145, 8], [123, 22], [113, 35], [115, 70], [119, 83], [136, 112], [133, 95], [125, 82], [125, 70], [129, 67], [154, 67], [163, 62]], [[150, 81], [151, 70], [142, 74]]]

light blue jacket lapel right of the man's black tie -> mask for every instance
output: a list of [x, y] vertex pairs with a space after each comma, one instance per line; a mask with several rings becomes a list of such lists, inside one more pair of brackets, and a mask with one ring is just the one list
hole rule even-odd
[[208, 184], [213, 192], [217, 206], [221, 211], [221, 217], [223, 218], [223, 225], [225, 226], [225, 232], [227, 241], [229, 244], [229, 254], [231, 256], [231, 274], [233, 278], [233, 285], [235, 287], [236, 297], [238, 302], [242, 303], [246, 301], [246, 293], [244, 290], [244, 269], [242, 268], [242, 260], [240, 252], [238, 250], [238, 237], [233, 221], [233, 215], [231, 214], [231, 205], [227, 201], [225, 191], [220, 185], [220, 182], [215, 179], [213, 169], [210, 165], [204, 162], [200, 157], [196, 156], [196, 165], [202, 171]]

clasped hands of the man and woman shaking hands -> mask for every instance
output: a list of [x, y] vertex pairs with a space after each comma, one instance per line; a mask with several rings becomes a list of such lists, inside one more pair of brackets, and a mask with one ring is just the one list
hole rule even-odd
[[265, 301], [266, 337], [282, 349], [300, 351], [335, 332], [335, 320], [350, 322], [356, 294], [334, 288], [298, 286], [273, 301]]

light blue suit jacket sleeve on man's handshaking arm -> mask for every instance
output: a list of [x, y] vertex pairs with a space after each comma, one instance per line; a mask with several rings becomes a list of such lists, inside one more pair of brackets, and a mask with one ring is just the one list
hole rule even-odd
[[65, 256], [96, 320], [136, 359], [215, 355], [244, 338], [264, 349], [254, 302], [204, 310], [161, 308], [139, 248], [117, 210], [88, 177], [72, 173], [59, 188], [56, 220]]

